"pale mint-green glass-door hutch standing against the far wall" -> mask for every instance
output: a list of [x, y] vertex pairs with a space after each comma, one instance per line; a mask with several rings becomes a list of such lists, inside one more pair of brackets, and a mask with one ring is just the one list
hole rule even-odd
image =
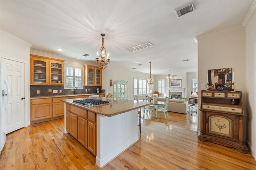
[[113, 83], [113, 96], [116, 99], [128, 99], [128, 82], [121, 80]]

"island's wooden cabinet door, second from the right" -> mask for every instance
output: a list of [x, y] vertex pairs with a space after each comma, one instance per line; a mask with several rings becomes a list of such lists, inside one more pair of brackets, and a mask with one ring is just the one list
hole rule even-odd
[[87, 147], [87, 120], [78, 116], [78, 132], [77, 132], [77, 140]]

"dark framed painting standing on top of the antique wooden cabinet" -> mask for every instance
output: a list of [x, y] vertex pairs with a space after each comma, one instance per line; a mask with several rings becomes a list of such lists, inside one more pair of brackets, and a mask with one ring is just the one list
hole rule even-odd
[[232, 68], [208, 70], [209, 90], [231, 91]]

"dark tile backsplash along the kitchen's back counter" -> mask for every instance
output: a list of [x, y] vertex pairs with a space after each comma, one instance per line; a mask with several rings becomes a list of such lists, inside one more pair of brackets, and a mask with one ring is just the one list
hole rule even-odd
[[[97, 93], [97, 88], [100, 89], [100, 93], [105, 93], [106, 90], [101, 89], [102, 86], [83, 86], [83, 89], [77, 89], [77, 94], [90, 94], [90, 93]], [[49, 89], [52, 92], [49, 92]], [[87, 89], [87, 92], [86, 92]], [[90, 89], [90, 91], [89, 91]], [[40, 94], [36, 94], [36, 91], [40, 90]], [[53, 93], [53, 90], [57, 90], [57, 93]], [[60, 93], [60, 90], [62, 92]], [[72, 89], [64, 89], [64, 86], [37, 86], [37, 85], [30, 85], [30, 97], [35, 96], [56, 96], [56, 95], [64, 95], [64, 94], [74, 94]], [[73, 89], [74, 90], [74, 89]]]

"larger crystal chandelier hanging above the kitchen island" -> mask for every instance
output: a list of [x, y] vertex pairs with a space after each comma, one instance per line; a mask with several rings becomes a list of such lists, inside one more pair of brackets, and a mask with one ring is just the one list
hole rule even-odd
[[[100, 57], [99, 53], [97, 51], [97, 58], [95, 59], [95, 62], [99, 64], [99, 68], [102, 68], [103, 70], [108, 67], [108, 64], [110, 63], [109, 53], [106, 55], [106, 49], [104, 47], [104, 36], [105, 34], [100, 34], [102, 36], [102, 46], [100, 47]], [[105, 57], [107, 56], [107, 59], [105, 61]]]

